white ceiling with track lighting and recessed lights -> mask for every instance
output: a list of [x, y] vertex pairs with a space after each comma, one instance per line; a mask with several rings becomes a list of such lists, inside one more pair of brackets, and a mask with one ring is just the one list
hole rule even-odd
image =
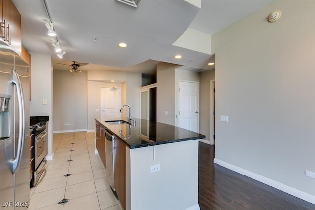
[[[138, 8], [115, 0], [46, 0], [57, 38], [66, 55], [60, 60], [47, 35], [43, 0], [13, 0], [22, 16], [22, 45], [49, 54], [53, 68], [124, 70], [154, 75], [160, 61], [181, 69], [209, 70], [214, 56], [172, 45], [190, 27], [212, 35], [270, 4], [269, 0], [202, 0], [201, 9], [184, 0], [142, 0]], [[94, 39], [97, 39], [96, 41]], [[128, 44], [118, 47], [119, 42]], [[183, 57], [174, 58], [176, 54]], [[191, 61], [192, 60], [192, 61]], [[193, 67], [193, 68], [191, 68]]]

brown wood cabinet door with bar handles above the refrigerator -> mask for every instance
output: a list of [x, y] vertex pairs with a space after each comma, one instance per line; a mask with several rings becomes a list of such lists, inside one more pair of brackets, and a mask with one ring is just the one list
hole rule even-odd
[[10, 46], [21, 56], [21, 15], [11, 0], [2, 0], [1, 11], [3, 21], [6, 21], [6, 30]]

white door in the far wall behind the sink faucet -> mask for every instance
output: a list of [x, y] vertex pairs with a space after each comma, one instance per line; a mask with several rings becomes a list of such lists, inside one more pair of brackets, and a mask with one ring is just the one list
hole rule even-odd
[[120, 88], [101, 87], [100, 117], [101, 121], [120, 118]]

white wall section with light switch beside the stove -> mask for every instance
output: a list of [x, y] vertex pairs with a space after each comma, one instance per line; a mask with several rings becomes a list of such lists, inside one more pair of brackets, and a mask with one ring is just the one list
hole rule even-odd
[[[52, 156], [53, 131], [53, 71], [51, 55], [30, 52], [32, 56], [32, 100], [30, 101], [30, 116], [49, 116], [48, 124], [48, 155]], [[47, 99], [47, 105], [43, 105]]]

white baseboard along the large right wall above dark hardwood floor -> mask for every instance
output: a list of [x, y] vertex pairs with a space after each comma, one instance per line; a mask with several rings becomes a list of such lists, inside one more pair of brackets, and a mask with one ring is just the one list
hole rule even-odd
[[215, 158], [213, 160], [213, 162], [218, 164], [218, 165], [221, 165], [221, 166], [223, 166], [225, 168], [228, 168], [228, 169], [230, 169], [232, 171], [235, 171], [235, 172], [240, 173], [242, 175], [246, 175], [246, 176], [248, 176], [248, 177], [250, 177], [252, 179], [255, 179], [255, 180], [260, 181], [260, 182], [262, 182], [264, 184], [272, 186], [272, 187], [274, 187], [274, 188], [276, 188], [278, 190], [284, 191], [284, 192], [286, 192], [286, 193], [288, 193], [290, 195], [293, 195], [293, 196], [295, 196], [297, 198], [300, 198], [300, 199], [302, 199], [304, 201], [307, 201], [307, 202], [310, 202], [312, 204], [315, 204], [315, 196], [314, 195], [311, 195], [311, 194], [305, 193], [303, 191], [297, 190], [297, 189], [295, 189], [293, 187], [284, 185], [284, 184], [282, 184], [280, 182], [274, 181], [274, 180], [272, 180], [270, 178], [266, 178], [266, 177], [264, 177], [262, 175], [258, 175], [258, 174], [252, 173], [252, 172], [247, 171], [245, 169], [242, 169], [240, 167], [237, 167], [237, 166], [234, 166], [232, 164], [229, 164], [229, 163], [226, 163], [224, 161], [221, 161], [221, 160], [219, 160], [217, 158]]

